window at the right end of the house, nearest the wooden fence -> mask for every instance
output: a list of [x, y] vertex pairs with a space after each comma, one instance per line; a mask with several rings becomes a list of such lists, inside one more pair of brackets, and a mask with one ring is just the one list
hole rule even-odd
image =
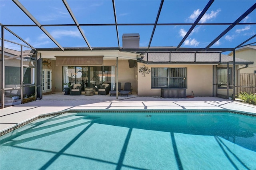
[[232, 81], [232, 67], [228, 68], [228, 77], [227, 77], [227, 68], [217, 68], [217, 84], [219, 89], [226, 89], [227, 85], [233, 85]]

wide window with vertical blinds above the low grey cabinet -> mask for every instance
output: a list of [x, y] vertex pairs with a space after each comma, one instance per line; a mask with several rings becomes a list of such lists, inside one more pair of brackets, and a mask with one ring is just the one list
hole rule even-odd
[[187, 88], [186, 68], [151, 68], [151, 88]]

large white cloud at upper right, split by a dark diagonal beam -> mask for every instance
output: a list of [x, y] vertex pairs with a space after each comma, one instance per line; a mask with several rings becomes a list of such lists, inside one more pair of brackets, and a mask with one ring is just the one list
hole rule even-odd
[[[193, 14], [189, 16], [190, 22], [194, 22], [196, 18], [201, 14], [202, 11], [199, 9], [194, 10]], [[204, 16], [201, 18], [200, 23], [205, 23], [208, 20], [212, 18], [216, 18], [217, 14], [220, 12], [220, 10], [211, 11], [211, 13], [205, 13]]]

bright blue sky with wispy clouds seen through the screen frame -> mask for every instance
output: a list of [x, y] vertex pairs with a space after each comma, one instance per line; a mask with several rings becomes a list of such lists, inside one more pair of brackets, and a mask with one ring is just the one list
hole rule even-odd
[[[67, 0], [79, 24], [114, 24], [111, 0]], [[160, 0], [116, 0], [118, 24], [154, 24]], [[20, 3], [40, 24], [74, 24], [61, 0], [20, 0]], [[207, 0], [165, 0], [158, 24], [193, 23], [204, 9]], [[233, 23], [255, 0], [215, 0], [199, 23]], [[0, 22], [34, 24], [11, 0], [0, 0]], [[240, 23], [256, 23], [256, 10]], [[229, 25], [196, 26], [181, 47], [204, 48]], [[177, 46], [190, 25], [157, 26], [151, 46]], [[8, 27], [12, 32], [36, 48], [58, 47], [38, 27]], [[62, 47], [88, 47], [76, 26], [44, 27]], [[115, 26], [82, 26], [91, 47], [118, 47]], [[139, 33], [140, 46], [147, 47], [153, 26], [118, 26], [120, 47], [122, 34]], [[22, 43], [5, 30], [5, 39]], [[256, 34], [256, 24], [237, 25], [218, 40], [212, 48], [236, 47]], [[256, 42], [256, 38], [247, 43]], [[246, 43], [246, 44], [247, 44]], [[5, 43], [16, 49], [18, 45]], [[255, 45], [255, 44], [254, 44]]]

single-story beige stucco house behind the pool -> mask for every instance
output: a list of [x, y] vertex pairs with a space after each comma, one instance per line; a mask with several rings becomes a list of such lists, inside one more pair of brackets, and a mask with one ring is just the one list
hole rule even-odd
[[[123, 44], [122, 49], [140, 48], [139, 43], [134, 41], [126, 43], [123, 40]], [[141, 53], [114, 47], [94, 48], [92, 51], [74, 47], [65, 48], [64, 51], [51, 48], [20, 53], [5, 48], [7, 76], [4, 77], [4, 92], [6, 96], [19, 95], [23, 102], [31, 88], [36, 95], [34, 99], [40, 99], [44, 93], [64, 91], [66, 83], [79, 83], [82, 88], [110, 83], [112, 90], [118, 81], [122, 83], [122, 89], [125, 82], [130, 82], [133, 92], [138, 96], [228, 98], [234, 93], [233, 69], [237, 70], [240, 65], [250, 65], [254, 62], [236, 58], [235, 63], [233, 66], [232, 56], [218, 51], [188, 49], [186, 52], [158, 50]], [[23, 65], [23, 70], [20, 65]], [[33, 95], [32, 92], [29, 93]]]

